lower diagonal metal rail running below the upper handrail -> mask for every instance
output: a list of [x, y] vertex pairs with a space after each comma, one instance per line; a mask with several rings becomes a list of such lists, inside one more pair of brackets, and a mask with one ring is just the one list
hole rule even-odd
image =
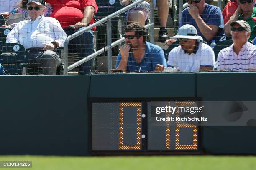
[[[148, 29], [148, 28], [150, 28], [152, 25], [154, 26], [153, 23], [147, 24], [147, 25], [145, 25], [145, 28]], [[152, 35], [151, 35], [151, 36], [152, 36]], [[79, 65], [83, 64], [84, 62], [87, 62], [87, 61], [91, 60], [92, 58], [97, 57], [98, 55], [102, 54], [103, 52], [105, 52], [105, 51], [111, 49], [112, 47], [115, 47], [115, 46], [117, 46], [118, 44], [124, 42], [124, 40], [125, 40], [125, 39], [124, 39], [124, 37], [123, 37], [123, 38], [121, 38], [121, 39], [119, 39], [119, 40], [113, 42], [113, 43], [111, 44], [111, 47], [110, 47], [110, 46], [106, 46], [105, 48], [102, 48], [102, 49], [98, 50], [97, 52], [95, 52], [95, 53], [93, 53], [93, 54], [91, 54], [91, 55], [88, 55], [87, 57], [83, 58], [82, 60], [79, 60], [78, 62], [75, 62], [75, 63], [72, 64], [72, 65], [69, 65], [69, 67], [67, 68], [67, 70], [70, 71], [70, 70], [74, 69], [75, 67], [78, 67]]]

